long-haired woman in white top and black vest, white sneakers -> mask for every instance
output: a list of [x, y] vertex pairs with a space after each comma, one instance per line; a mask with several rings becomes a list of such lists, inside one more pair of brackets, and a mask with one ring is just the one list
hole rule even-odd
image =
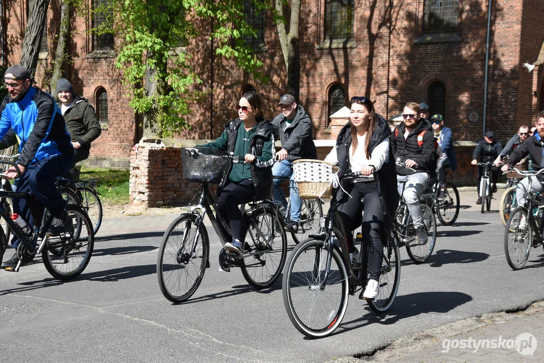
[[353, 264], [359, 261], [353, 230], [362, 224], [363, 244], [370, 247], [369, 280], [363, 298], [374, 299], [379, 291], [382, 243], [386, 243], [390, 235], [393, 214], [399, 202], [389, 141], [391, 130], [385, 119], [376, 114], [372, 101], [367, 97], [351, 97], [350, 109], [350, 122], [338, 134], [336, 146], [325, 161], [337, 164], [341, 175], [361, 171], [362, 175], [369, 176], [344, 183], [342, 187], [347, 193], [341, 189], [337, 198], [338, 214], [346, 231]]

